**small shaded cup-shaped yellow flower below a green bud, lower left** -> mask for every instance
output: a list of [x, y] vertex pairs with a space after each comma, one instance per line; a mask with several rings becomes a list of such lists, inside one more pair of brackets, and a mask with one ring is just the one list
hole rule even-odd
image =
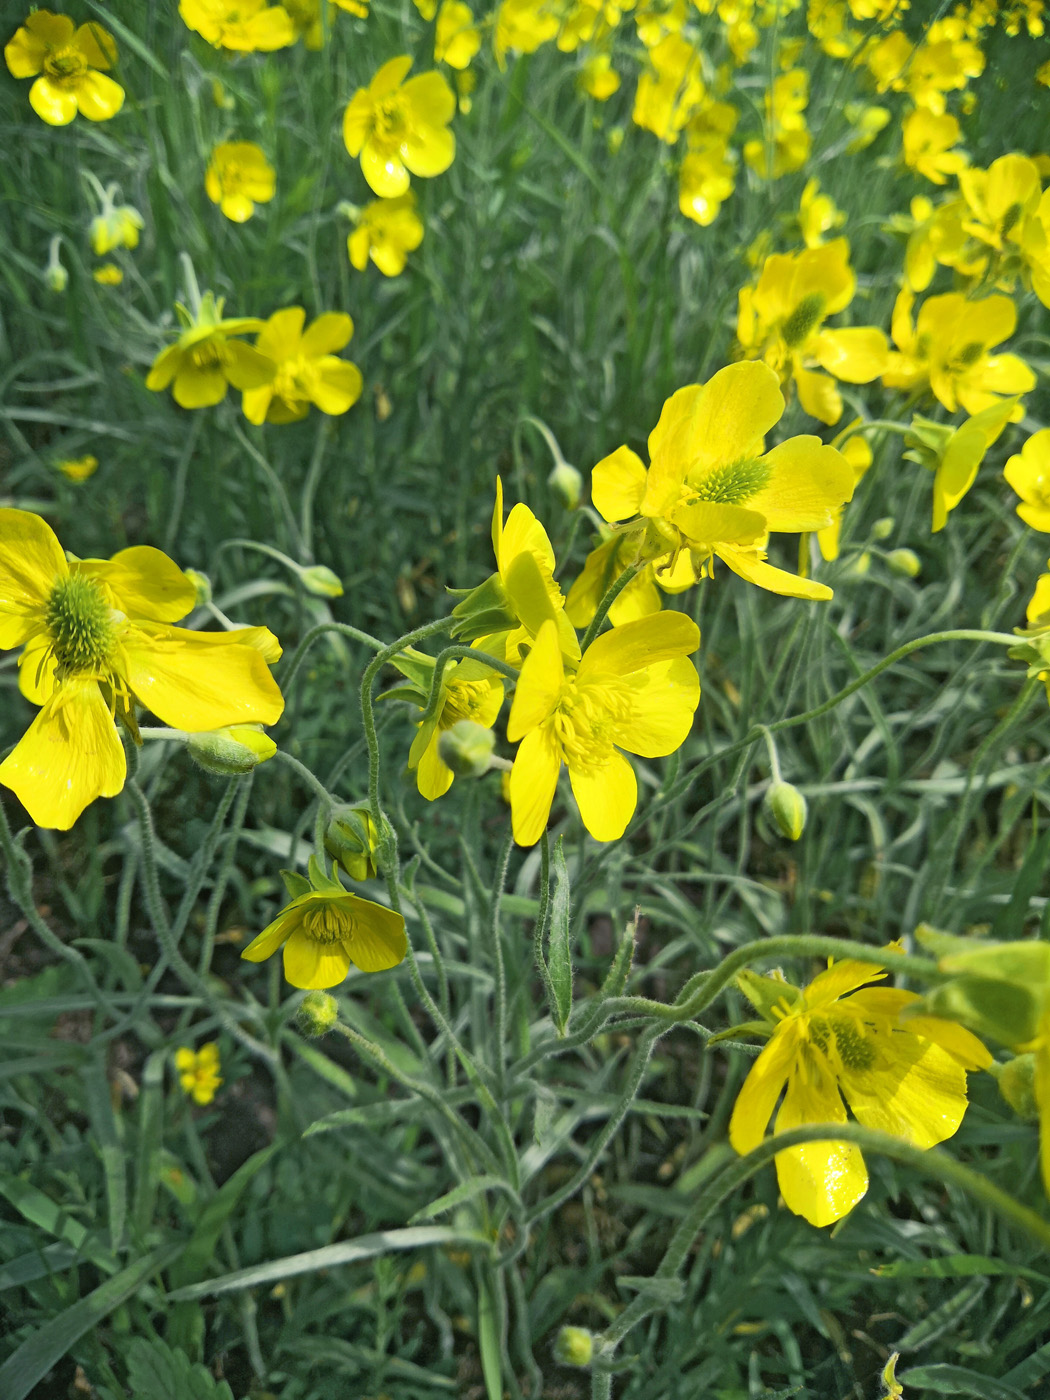
[[248, 962], [263, 962], [283, 948], [287, 981], [323, 991], [339, 986], [351, 963], [361, 972], [385, 972], [403, 960], [409, 939], [400, 914], [350, 895], [316, 857], [309, 879], [286, 871], [284, 883], [291, 903], [241, 953]]

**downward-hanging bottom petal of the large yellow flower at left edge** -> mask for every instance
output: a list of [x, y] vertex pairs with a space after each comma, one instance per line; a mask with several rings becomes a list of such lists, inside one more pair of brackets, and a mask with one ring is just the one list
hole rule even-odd
[[60, 686], [0, 764], [36, 826], [67, 832], [97, 797], [125, 785], [125, 750], [95, 680]]

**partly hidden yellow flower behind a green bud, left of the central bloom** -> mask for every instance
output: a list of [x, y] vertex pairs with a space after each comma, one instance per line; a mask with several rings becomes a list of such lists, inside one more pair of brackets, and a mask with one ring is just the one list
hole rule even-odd
[[[393, 696], [412, 700], [423, 708], [434, 679], [434, 661], [412, 647], [393, 658], [393, 665], [412, 682]], [[454, 773], [438, 753], [438, 742], [445, 731], [472, 720], [490, 729], [503, 706], [503, 680], [480, 661], [454, 661], [441, 673], [441, 693], [437, 713], [420, 722], [409, 750], [409, 770], [416, 774], [416, 787], [428, 802], [444, 797], [452, 787]]]

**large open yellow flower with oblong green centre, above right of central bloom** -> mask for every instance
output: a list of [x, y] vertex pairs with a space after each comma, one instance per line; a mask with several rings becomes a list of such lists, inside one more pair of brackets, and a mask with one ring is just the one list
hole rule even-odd
[[666, 400], [650, 434], [648, 472], [627, 447], [595, 466], [595, 508], [609, 524], [627, 522], [622, 532], [634, 538], [636, 559], [654, 561], [661, 587], [673, 591], [710, 575], [718, 557], [776, 594], [832, 596], [825, 584], [766, 563], [771, 531], [823, 529], [853, 494], [846, 458], [816, 437], [763, 451], [783, 413], [767, 365], [732, 364]]

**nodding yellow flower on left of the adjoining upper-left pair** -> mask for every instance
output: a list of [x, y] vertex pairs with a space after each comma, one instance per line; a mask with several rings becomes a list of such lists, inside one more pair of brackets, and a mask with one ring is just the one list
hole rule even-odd
[[183, 409], [206, 409], [221, 403], [227, 385], [235, 389], [259, 389], [276, 374], [276, 365], [234, 336], [260, 330], [258, 316], [223, 318], [223, 298], [206, 291], [196, 318], [176, 304], [182, 335], [174, 346], [161, 350], [146, 377], [146, 388], [162, 391], [172, 385], [175, 402]]

